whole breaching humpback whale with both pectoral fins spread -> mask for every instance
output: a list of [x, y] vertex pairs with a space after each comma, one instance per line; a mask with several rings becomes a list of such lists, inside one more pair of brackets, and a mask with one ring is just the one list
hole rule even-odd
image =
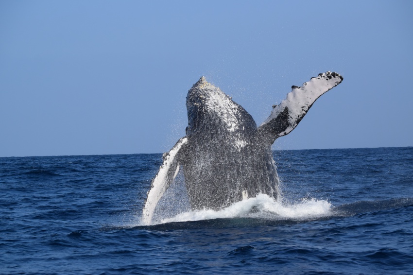
[[301, 87], [292, 86], [287, 98], [273, 105], [259, 127], [251, 115], [205, 77], [187, 95], [188, 127], [152, 181], [142, 213], [150, 224], [156, 204], [180, 169], [192, 210], [219, 210], [260, 193], [278, 199], [279, 179], [272, 156], [275, 139], [290, 133], [312, 104], [337, 86], [343, 77], [320, 73]]

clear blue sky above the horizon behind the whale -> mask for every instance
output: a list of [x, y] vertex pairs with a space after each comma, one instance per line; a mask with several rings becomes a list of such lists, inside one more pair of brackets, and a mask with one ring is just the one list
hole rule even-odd
[[0, 157], [162, 153], [201, 76], [259, 125], [336, 71], [281, 149], [413, 146], [413, 1], [0, 0]]

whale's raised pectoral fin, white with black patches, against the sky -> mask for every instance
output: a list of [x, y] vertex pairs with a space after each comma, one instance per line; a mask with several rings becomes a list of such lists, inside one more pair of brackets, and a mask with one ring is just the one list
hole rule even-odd
[[339, 85], [343, 77], [335, 72], [320, 73], [301, 87], [292, 91], [279, 105], [274, 105], [271, 115], [259, 127], [258, 133], [271, 144], [275, 139], [293, 131], [307, 114], [311, 105], [325, 92]]

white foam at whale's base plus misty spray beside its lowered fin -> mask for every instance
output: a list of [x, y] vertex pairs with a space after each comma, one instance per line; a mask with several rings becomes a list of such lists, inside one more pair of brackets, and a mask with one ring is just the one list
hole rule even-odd
[[185, 178], [182, 171], [179, 171], [158, 202], [152, 222], [144, 223], [139, 217], [138, 224], [134, 223], [134, 226], [233, 218], [300, 222], [334, 215], [333, 208], [328, 200], [304, 198], [298, 202], [290, 202], [282, 197], [276, 200], [266, 194], [258, 194], [256, 197], [236, 202], [222, 210], [191, 211]]

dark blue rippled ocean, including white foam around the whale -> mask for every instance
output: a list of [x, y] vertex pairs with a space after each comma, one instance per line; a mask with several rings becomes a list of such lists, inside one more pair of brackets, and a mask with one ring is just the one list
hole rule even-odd
[[161, 157], [0, 158], [0, 274], [413, 274], [413, 147], [275, 151], [281, 202], [177, 180], [142, 226]]

